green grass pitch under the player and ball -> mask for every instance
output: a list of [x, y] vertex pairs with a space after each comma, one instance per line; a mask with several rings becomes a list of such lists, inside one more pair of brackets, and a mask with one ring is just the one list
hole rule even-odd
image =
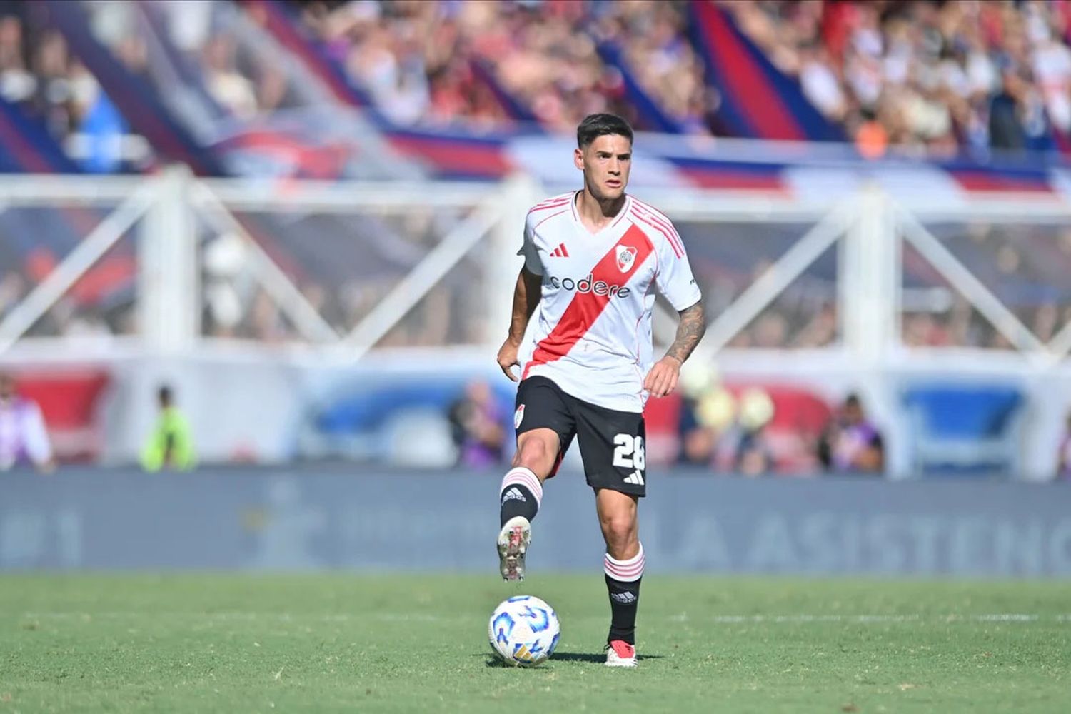
[[[528, 592], [562, 638], [495, 666]], [[602, 666], [600, 573], [5, 576], [0, 712], [1071, 712], [1071, 583], [649, 576]]]

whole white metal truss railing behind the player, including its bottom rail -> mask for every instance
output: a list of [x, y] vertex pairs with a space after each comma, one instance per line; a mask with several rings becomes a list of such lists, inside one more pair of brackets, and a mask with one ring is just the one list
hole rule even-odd
[[[502, 183], [464, 182], [293, 182], [197, 179], [183, 168], [153, 177], [18, 177], [0, 180], [0, 214], [19, 208], [89, 207], [103, 215], [77, 247], [15, 306], [0, 306], [0, 363], [103, 362], [160, 356], [176, 364], [211, 359], [220, 365], [289, 361], [303, 368], [325, 365], [366, 369], [407, 369], [412, 365], [491, 365], [510, 318], [510, 295], [519, 267], [516, 248], [527, 208], [545, 197], [530, 179]], [[645, 199], [681, 224], [710, 227], [746, 224], [756, 230], [799, 227], [799, 238], [773, 260], [764, 275], [722, 312], [711, 315], [707, 337], [693, 363], [714, 365], [724, 375], [795, 381], [830, 397], [847, 389], [863, 392], [891, 442], [903, 440], [900, 379], [933, 374], [1016, 380], [1034, 390], [1037, 428], [1023, 450], [1028, 468], [1043, 473], [1044, 450], [1062, 423], [1064, 398], [1071, 399], [1071, 325], [1043, 343], [1005, 305], [993, 286], [971, 273], [927, 226], [989, 222], [1001, 226], [1071, 226], [1071, 210], [1058, 199], [991, 198], [933, 202], [893, 201], [876, 188], [820, 201], [791, 196], [682, 191], [645, 192]], [[283, 267], [248, 234], [243, 214], [406, 216], [413, 209], [451, 216], [438, 228], [427, 253], [408, 274], [384, 288], [356, 324], [329, 323]], [[199, 232], [200, 231], [200, 232]], [[244, 270], [295, 325], [300, 344], [236, 343], [202, 334], [201, 274], [206, 240], [228, 237], [243, 246]], [[135, 336], [32, 337], [28, 329], [118, 241], [137, 241], [138, 279]], [[692, 236], [694, 239], [694, 233]], [[903, 259], [910, 246], [1013, 346], [1012, 351], [970, 348], [907, 349], [901, 339]], [[835, 344], [808, 350], [739, 350], [735, 335], [804, 274], [816, 259], [836, 250]], [[459, 261], [479, 260], [482, 301], [487, 312], [478, 345], [464, 348], [374, 349], [377, 343], [452, 271]], [[662, 341], [672, 338], [672, 315], [655, 320]], [[240, 345], [236, 348], [235, 346]], [[408, 366], [407, 366], [408, 365]], [[244, 368], [244, 367], [243, 367]], [[1064, 386], [1060, 386], [1064, 385]], [[1062, 396], [1061, 396], [1062, 395]], [[140, 419], [140, 417], [139, 417]], [[1037, 446], [1036, 444], [1040, 444]], [[902, 451], [890, 453], [893, 473], [909, 465]], [[1032, 459], [1032, 462], [1031, 462]], [[1032, 466], [1031, 466], [1032, 464]]]

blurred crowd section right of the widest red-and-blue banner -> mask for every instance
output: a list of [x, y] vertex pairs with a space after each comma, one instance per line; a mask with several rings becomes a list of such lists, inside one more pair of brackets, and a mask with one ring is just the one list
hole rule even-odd
[[729, 2], [864, 152], [1049, 149], [1071, 130], [1062, 2]]

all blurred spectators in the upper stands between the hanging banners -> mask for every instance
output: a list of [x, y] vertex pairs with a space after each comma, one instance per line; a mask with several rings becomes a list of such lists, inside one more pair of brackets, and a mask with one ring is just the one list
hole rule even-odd
[[[718, 4], [866, 155], [889, 147], [1050, 149], [1071, 135], [1066, 2], [808, 0]], [[292, 89], [240, 46], [233, 9], [87, 3], [94, 33], [150, 77], [141, 25], [169, 28], [208, 94], [238, 120], [288, 105]], [[314, 0], [301, 21], [391, 120], [502, 128], [534, 118], [571, 131], [592, 111], [644, 126], [621, 66], [681, 131], [720, 134], [719, 96], [689, 36], [687, 2]], [[179, 12], [181, 10], [181, 12]], [[62, 35], [25, 3], [0, 5], [0, 95], [64, 140], [92, 121], [101, 90]]]

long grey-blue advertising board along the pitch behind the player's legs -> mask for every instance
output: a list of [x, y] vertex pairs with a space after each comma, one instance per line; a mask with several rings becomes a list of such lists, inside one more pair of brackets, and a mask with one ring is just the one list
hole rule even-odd
[[[498, 473], [12, 473], [0, 569], [466, 571], [495, 577]], [[1071, 576], [1071, 487], [651, 473], [652, 573]], [[597, 573], [590, 490], [546, 490], [531, 573]], [[413, 523], [419, 525], [414, 528]]]

